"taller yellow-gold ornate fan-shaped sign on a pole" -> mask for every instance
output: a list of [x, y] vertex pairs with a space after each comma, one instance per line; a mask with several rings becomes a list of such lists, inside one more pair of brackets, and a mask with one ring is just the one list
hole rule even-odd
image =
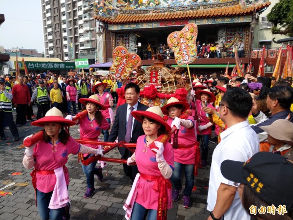
[[178, 65], [192, 63], [197, 58], [197, 25], [188, 23], [181, 31], [169, 34], [167, 43], [173, 50]]

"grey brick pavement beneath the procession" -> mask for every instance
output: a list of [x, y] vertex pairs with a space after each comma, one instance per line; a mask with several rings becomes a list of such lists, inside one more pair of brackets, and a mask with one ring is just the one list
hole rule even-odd
[[[34, 111], [36, 109], [34, 108]], [[15, 111], [14, 111], [15, 114]], [[4, 130], [6, 141], [0, 141], [0, 188], [15, 182], [16, 184], [4, 189], [4, 192], [12, 192], [13, 195], [0, 197], [0, 220], [34, 220], [39, 219], [35, 205], [35, 195], [31, 184], [30, 170], [22, 165], [24, 149], [21, 146], [23, 138], [40, 128], [23, 126], [19, 128], [21, 141], [14, 141], [9, 130]], [[74, 138], [79, 137], [78, 126], [70, 128], [70, 134]], [[211, 158], [215, 144], [209, 144]], [[110, 157], [120, 158], [118, 150], [107, 154]], [[125, 211], [123, 204], [130, 191], [131, 182], [124, 175], [122, 164], [108, 163], [105, 167], [104, 179], [99, 182], [95, 179], [96, 193], [92, 198], [83, 198], [86, 188], [86, 180], [81, 165], [77, 163], [77, 155], [69, 155], [66, 166], [69, 169], [70, 184], [69, 197], [71, 199], [71, 218], [73, 220], [122, 220]], [[200, 169], [195, 178], [194, 185], [197, 190], [192, 193], [192, 207], [186, 209], [180, 200], [173, 202], [173, 208], [168, 211], [168, 220], [204, 220], [209, 216], [207, 211], [207, 195], [209, 185], [209, 166]], [[22, 172], [21, 176], [11, 176], [13, 172]]]

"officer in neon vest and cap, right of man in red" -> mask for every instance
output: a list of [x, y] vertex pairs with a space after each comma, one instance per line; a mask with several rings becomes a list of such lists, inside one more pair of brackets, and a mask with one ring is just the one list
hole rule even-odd
[[38, 107], [37, 119], [40, 119], [44, 117], [46, 112], [49, 110], [48, 104], [50, 101], [50, 96], [47, 89], [44, 87], [43, 80], [39, 80], [39, 87], [35, 88], [31, 98], [31, 103], [33, 103], [35, 99], [37, 100]]

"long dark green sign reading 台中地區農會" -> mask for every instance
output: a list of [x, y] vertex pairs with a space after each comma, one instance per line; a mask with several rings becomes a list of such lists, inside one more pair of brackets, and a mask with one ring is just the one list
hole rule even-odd
[[28, 70], [48, 69], [48, 70], [61, 70], [61, 69], [75, 69], [74, 62], [25, 62]]

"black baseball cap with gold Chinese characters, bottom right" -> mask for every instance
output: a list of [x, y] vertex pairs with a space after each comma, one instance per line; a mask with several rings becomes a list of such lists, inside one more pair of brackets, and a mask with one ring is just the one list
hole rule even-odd
[[230, 181], [246, 184], [259, 198], [276, 207], [293, 206], [293, 163], [280, 154], [259, 152], [248, 161], [225, 160], [221, 173]]

